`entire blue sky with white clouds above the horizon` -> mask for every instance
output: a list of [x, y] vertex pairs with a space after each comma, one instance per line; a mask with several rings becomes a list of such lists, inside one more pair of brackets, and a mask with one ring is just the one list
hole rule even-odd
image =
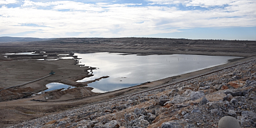
[[256, 0], [0, 0], [0, 36], [256, 40]]

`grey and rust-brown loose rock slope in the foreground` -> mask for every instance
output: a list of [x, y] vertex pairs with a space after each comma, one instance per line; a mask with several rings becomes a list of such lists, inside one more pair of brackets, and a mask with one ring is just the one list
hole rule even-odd
[[217, 127], [223, 116], [256, 127], [255, 63], [12, 127]]

